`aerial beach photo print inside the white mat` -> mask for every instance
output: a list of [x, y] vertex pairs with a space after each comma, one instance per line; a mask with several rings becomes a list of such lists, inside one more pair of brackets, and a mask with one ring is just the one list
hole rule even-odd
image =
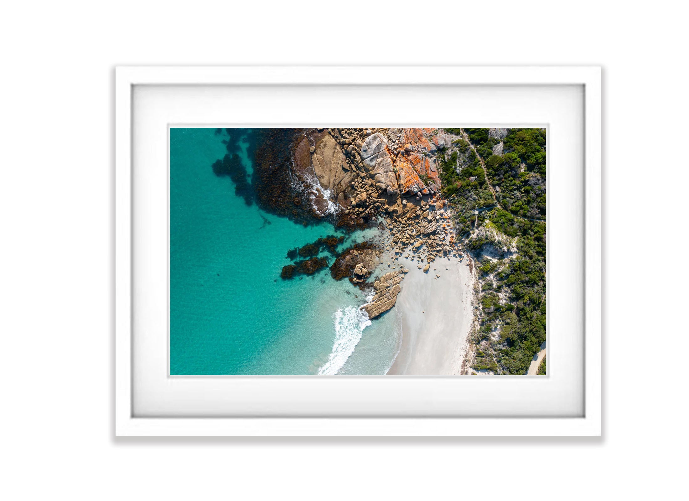
[[546, 130], [169, 129], [169, 370], [546, 374]]

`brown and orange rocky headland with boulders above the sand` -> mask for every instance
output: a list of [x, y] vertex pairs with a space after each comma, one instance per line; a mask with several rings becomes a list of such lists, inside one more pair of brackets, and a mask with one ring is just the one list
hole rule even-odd
[[[323, 127], [294, 135], [291, 172], [296, 182], [285, 197], [293, 212], [306, 208], [313, 218], [330, 218], [347, 230], [381, 229], [376, 244], [350, 247], [331, 266], [336, 280], [349, 278], [371, 290], [375, 306], [364, 306], [370, 318], [395, 304], [405, 273], [397, 263], [401, 256], [425, 267], [424, 272], [435, 258], [460, 256], [451, 207], [439, 192], [437, 161], [455, 137], [418, 127]], [[382, 275], [376, 279], [378, 267]], [[376, 283], [393, 285], [379, 290]]]

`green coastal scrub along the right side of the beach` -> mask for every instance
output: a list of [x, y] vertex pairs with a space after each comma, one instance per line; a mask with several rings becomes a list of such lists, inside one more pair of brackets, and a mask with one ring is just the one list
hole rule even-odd
[[546, 340], [546, 132], [445, 132], [460, 139], [440, 155], [442, 193], [455, 209], [457, 234], [477, 261], [472, 367], [526, 374]]

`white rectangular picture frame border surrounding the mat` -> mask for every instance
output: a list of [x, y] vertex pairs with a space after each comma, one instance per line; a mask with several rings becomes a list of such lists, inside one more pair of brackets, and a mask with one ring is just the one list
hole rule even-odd
[[[577, 417], [277, 415], [252, 411], [214, 416], [187, 409], [179, 416], [134, 412], [132, 325], [132, 150], [136, 86], [241, 88], [299, 85], [450, 85], [501, 88], [535, 85], [583, 89], [584, 159], [584, 367], [583, 413]], [[119, 67], [115, 74], [115, 433], [117, 436], [597, 436], [601, 433], [601, 73], [598, 67]], [[269, 117], [263, 123], [268, 123]], [[189, 123], [194, 123], [190, 120]], [[276, 125], [284, 122], [277, 121]], [[165, 256], [162, 256], [163, 258]], [[548, 289], [550, 290], [550, 289]], [[550, 322], [550, 319], [548, 320]], [[550, 336], [550, 334], [548, 334]], [[551, 359], [548, 358], [548, 366]], [[232, 377], [232, 376], [231, 376]], [[353, 377], [353, 376], [351, 376]], [[511, 377], [511, 376], [501, 376]], [[520, 376], [515, 376], [520, 377]], [[424, 384], [434, 384], [428, 376]], [[275, 380], [276, 378], [274, 378]], [[298, 381], [298, 380], [295, 380]], [[200, 384], [200, 383], [196, 383]], [[291, 384], [291, 383], [289, 383]], [[299, 384], [295, 382], [295, 384]], [[329, 382], [325, 382], [329, 384]], [[339, 384], [339, 383], [338, 383]], [[441, 382], [439, 381], [440, 385]], [[211, 393], [209, 393], [211, 394]]]

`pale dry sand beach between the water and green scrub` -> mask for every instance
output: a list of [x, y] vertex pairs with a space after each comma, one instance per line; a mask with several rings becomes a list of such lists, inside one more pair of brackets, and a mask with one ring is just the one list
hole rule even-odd
[[417, 267], [425, 262], [400, 257], [394, 263], [411, 271], [395, 304], [402, 310], [402, 346], [387, 374], [460, 374], [473, 322], [466, 258], [437, 258], [427, 274]]

